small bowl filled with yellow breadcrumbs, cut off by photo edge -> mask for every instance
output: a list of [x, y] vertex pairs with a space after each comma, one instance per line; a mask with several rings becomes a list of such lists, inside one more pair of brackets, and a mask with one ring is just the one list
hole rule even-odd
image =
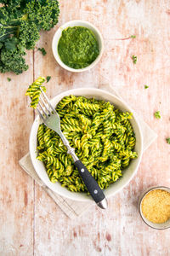
[[139, 212], [151, 228], [170, 228], [170, 189], [162, 186], [147, 189], [140, 197]]

